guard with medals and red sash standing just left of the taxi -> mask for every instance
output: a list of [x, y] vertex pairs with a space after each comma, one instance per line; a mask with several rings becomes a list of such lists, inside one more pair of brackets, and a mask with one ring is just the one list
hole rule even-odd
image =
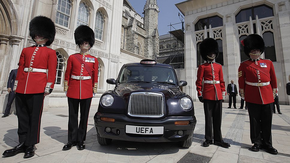
[[[98, 87], [98, 59], [89, 55], [89, 49], [95, 43], [94, 31], [80, 25], [75, 29], [75, 43], [81, 51], [70, 55], [64, 76], [64, 91], [69, 105], [68, 143], [63, 150], [77, 146], [85, 149], [84, 141], [87, 134], [87, 121], [92, 97]], [[78, 109], [80, 107], [80, 122], [78, 125]]]

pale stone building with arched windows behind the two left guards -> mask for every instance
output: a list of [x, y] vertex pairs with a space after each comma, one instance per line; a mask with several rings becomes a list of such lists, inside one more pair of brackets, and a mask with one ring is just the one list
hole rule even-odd
[[[135, 12], [127, 0], [0, 0], [0, 4], [2, 111], [5, 110], [8, 98], [9, 73], [17, 68], [22, 49], [34, 44], [29, 37], [28, 24], [35, 16], [47, 16], [56, 25], [56, 36], [51, 48], [56, 50], [58, 57], [57, 76], [53, 92], [45, 97], [44, 111], [48, 107], [67, 106], [67, 98], [63, 91], [64, 72], [68, 57], [79, 52], [73, 37], [78, 25], [88, 25], [95, 31], [95, 44], [89, 53], [96, 56], [99, 61], [99, 84], [92, 105], [98, 104], [102, 93], [113, 87], [106, 83], [106, 79], [116, 79], [123, 64], [139, 62], [141, 59], [153, 56], [148, 51], [154, 52], [154, 50], [145, 48], [147, 35], [144, 18]], [[150, 0], [144, 0], [144, 4], [157, 6], [156, 1]], [[146, 9], [151, 10], [150, 7]], [[151, 26], [155, 28], [156, 24]], [[158, 31], [156, 33], [158, 39]], [[11, 111], [14, 109], [13, 103]]]

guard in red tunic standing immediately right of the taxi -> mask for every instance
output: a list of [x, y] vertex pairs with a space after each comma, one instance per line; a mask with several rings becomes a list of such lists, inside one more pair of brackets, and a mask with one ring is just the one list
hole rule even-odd
[[[197, 70], [196, 90], [200, 102], [203, 102], [205, 115], [205, 139], [203, 146], [209, 147], [214, 139], [215, 145], [230, 147], [221, 135], [222, 100], [226, 97], [223, 70], [214, 60], [218, 56], [218, 43], [206, 38], [200, 43], [200, 55], [206, 62]], [[204, 84], [202, 82], [204, 81]]]

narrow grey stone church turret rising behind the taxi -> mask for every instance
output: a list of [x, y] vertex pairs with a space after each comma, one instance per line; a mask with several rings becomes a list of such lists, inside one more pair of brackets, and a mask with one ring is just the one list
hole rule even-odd
[[157, 0], [146, 0], [144, 6], [144, 28], [146, 30], [144, 56], [152, 59], [156, 59], [156, 56], [159, 55], [158, 13]]

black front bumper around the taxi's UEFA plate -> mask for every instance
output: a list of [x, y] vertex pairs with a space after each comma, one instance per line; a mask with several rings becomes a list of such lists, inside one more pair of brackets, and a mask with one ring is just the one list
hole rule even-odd
[[[100, 117], [114, 118], [114, 123], [104, 122]], [[94, 116], [97, 134], [103, 138], [139, 141], [139, 142], [168, 142], [168, 141], [186, 141], [194, 131], [196, 118], [195, 116], [168, 116], [162, 119], [138, 119], [131, 118], [124, 114], [101, 113], [97, 112]], [[190, 121], [190, 125], [176, 126], [175, 121]], [[133, 126], [164, 126], [164, 133], [160, 135], [143, 135], [126, 133], [126, 125]], [[105, 132], [105, 128], [110, 127], [111, 132]], [[182, 130], [183, 135], [177, 132]]]

